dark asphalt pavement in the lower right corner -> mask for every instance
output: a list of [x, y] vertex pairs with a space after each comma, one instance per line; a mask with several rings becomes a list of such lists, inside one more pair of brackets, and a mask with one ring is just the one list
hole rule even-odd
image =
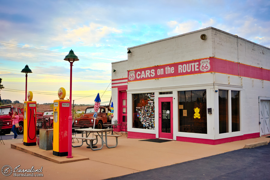
[[171, 166], [111, 178], [110, 180], [269, 179], [269, 167], [270, 143], [265, 146], [239, 149]]

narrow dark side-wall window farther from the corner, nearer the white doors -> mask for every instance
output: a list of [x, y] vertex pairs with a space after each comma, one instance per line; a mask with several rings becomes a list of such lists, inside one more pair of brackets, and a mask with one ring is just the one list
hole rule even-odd
[[232, 101], [232, 132], [240, 131], [239, 91], [231, 91], [231, 101]]

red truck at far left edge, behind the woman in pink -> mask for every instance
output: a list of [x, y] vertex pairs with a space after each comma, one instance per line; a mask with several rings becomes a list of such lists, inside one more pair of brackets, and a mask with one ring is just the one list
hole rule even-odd
[[19, 107], [14, 107], [11, 104], [0, 106], [0, 120], [3, 121], [2, 134], [10, 134], [12, 129], [12, 115], [17, 111], [19, 116], [19, 128], [17, 134], [23, 134], [23, 114]]

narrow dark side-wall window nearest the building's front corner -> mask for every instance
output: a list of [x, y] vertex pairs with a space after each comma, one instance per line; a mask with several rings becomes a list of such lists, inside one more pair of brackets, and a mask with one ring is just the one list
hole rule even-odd
[[228, 90], [218, 90], [219, 133], [229, 132]]

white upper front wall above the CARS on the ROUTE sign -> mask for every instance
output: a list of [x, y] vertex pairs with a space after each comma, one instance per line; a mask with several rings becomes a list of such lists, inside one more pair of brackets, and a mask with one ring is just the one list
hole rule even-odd
[[[201, 40], [202, 34], [207, 40]], [[211, 37], [211, 29], [205, 29], [128, 48], [129, 70], [211, 57]]]

